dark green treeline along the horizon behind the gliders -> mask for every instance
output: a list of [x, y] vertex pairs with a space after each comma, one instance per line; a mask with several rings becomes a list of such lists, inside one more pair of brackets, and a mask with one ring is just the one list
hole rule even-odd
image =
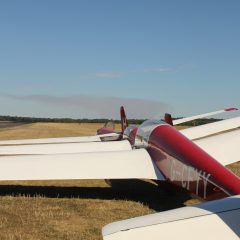
[[[221, 119], [203, 118], [203, 119], [197, 119], [197, 120], [194, 120], [194, 121], [183, 123], [183, 124], [180, 124], [180, 125], [198, 126], [198, 125], [202, 125], [202, 124], [216, 122], [216, 121], [219, 121], [219, 120], [221, 120]], [[111, 122], [114, 122], [114, 123], [120, 123], [120, 120], [112, 120], [112, 119], [106, 119], [106, 118], [73, 119], [73, 118], [37, 118], [37, 117], [18, 117], [18, 116], [0, 116], [0, 121], [10, 121], [10, 122], [20, 122], [20, 123], [53, 122], [53, 123], [103, 123], [103, 124], [111, 121]], [[145, 121], [145, 119], [128, 119], [129, 124], [134, 124], [134, 125], [139, 125], [144, 121]]]

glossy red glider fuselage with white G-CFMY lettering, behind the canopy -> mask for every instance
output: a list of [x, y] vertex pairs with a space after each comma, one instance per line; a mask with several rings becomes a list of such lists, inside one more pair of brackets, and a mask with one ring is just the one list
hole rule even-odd
[[222, 195], [240, 194], [240, 178], [172, 126], [156, 127], [148, 143], [152, 159], [169, 181], [205, 199], [219, 197], [216, 186]]

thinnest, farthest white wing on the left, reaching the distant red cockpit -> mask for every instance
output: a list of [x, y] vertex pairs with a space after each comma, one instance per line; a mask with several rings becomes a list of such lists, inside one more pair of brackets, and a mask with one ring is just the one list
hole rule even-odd
[[36, 138], [21, 140], [1, 140], [0, 145], [24, 145], [24, 144], [52, 144], [52, 143], [75, 143], [75, 142], [100, 142], [103, 137], [116, 137], [119, 134], [109, 133], [86, 137], [64, 137], [64, 138]]

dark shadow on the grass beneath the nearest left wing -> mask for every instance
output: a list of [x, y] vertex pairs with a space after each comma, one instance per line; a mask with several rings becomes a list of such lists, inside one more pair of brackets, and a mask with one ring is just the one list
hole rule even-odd
[[0, 185], [0, 196], [130, 200], [141, 202], [158, 212], [182, 207], [191, 198], [165, 184], [157, 186], [143, 180], [109, 180], [109, 183], [112, 187]]

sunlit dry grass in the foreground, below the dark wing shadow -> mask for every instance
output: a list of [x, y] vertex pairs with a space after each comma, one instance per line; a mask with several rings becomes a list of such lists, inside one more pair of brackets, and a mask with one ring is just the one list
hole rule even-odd
[[101, 227], [149, 212], [140, 203], [98, 199], [0, 198], [0, 239], [101, 239]]

